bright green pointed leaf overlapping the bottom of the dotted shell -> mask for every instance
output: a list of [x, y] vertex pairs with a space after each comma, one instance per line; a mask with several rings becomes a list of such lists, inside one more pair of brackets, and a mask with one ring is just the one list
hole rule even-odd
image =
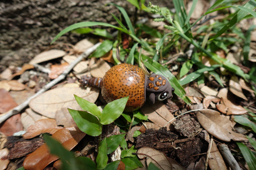
[[102, 120], [100, 120], [100, 123], [107, 125], [119, 118], [126, 107], [128, 98], [129, 96], [109, 102], [102, 110]]

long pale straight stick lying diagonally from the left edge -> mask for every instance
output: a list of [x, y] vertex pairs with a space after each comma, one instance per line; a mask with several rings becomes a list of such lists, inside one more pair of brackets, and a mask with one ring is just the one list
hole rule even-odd
[[66, 75], [75, 67], [75, 65], [77, 63], [79, 63], [83, 58], [87, 58], [93, 51], [95, 51], [95, 49], [97, 49], [97, 47], [100, 45], [101, 43], [97, 43], [94, 46], [90, 47], [89, 49], [87, 49], [85, 52], [83, 52], [83, 54], [81, 54], [80, 56], [78, 56], [78, 58], [76, 58], [76, 60], [74, 60], [67, 68], [66, 70], [64, 70], [64, 72], [62, 72], [61, 75], [59, 75], [59, 77], [57, 77], [56, 79], [52, 80], [50, 83], [46, 84], [45, 86], [43, 86], [43, 88], [38, 91], [36, 94], [34, 94], [33, 96], [31, 96], [30, 98], [28, 98], [26, 101], [24, 101], [23, 103], [21, 103], [20, 105], [18, 105], [17, 107], [14, 107], [12, 110], [9, 110], [8, 112], [5, 112], [4, 114], [2, 114], [0, 116], [0, 123], [2, 123], [3, 121], [5, 121], [6, 119], [8, 119], [9, 117], [13, 116], [14, 114], [18, 114], [19, 112], [21, 112], [21, 110], [23, 110], [25, 107], [28, 106], [28, 103], [30, 102], [30, 100], [32, 100], [33, 98], [37, 97], [38, 95], [42, 94], [43, 92], [47, 91], [48, 89], [50, 89], [52, 86], [54, 86], [55, 84], [57, 84], [58, 82], [60, 82], [61, 80], [63, 80]]

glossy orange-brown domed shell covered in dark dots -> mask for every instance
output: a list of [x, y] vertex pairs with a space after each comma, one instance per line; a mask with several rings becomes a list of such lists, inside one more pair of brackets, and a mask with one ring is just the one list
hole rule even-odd
[[135, 65], [115, 65], [102, 79], [102, 97], [111, 102], [129, 96], [125, 111], [139, 109], [146, 100], [145, 78], [145, 72]]

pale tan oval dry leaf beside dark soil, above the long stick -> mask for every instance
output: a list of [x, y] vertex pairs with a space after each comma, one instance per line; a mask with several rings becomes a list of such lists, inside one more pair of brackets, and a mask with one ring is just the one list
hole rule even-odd
[[38, 64], [44, 61], [49, 61], [55, 58], [62, 57], [66, 54], [65, 51], [59, 49], [51, 49], [49, 51], [44, 51], [38, 55], [36, 55], [29, 64]]

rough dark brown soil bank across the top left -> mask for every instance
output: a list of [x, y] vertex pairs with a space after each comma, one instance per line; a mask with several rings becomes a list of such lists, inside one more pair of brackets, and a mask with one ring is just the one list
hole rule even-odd
[[[116, 25], [111, 14], [119, 16], [113, 2], [124, 7], [129, 16], [135, 14], [135, 7], [120, 0], [2, 0], [0, 2], [0, 72], [9, 65], [21, 66], [41, 51], [53, 48], [50, 42], [65, 27], [81, 21], [98, 21]], [[172, 8], [172, 2], [163, 0], [160, 7]], [[146, 2], [147, 5], [147, 2]], [[111, 32], [108, 28], [108, 31]], [[85, 37], [66, 33], [53, 44], [75, 44]]]

